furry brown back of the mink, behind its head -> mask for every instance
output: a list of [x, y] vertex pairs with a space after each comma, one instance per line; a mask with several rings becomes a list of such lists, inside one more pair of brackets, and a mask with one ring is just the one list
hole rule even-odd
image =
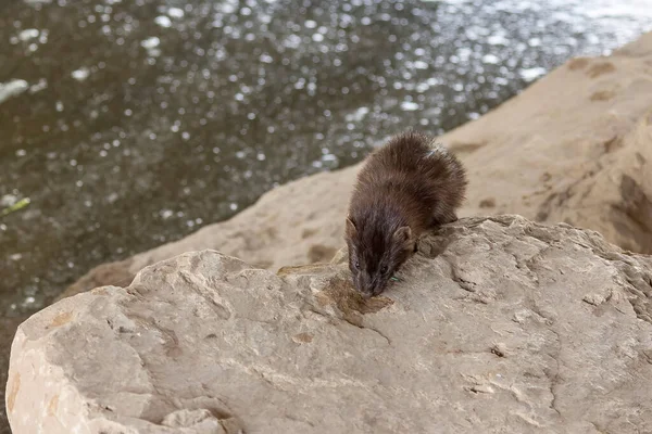
[[367, 158], [358, 175], [350, 214], [403, 214], [414, 229], [454, 220], [466, 190], [457, 158], [418, 132], [394, 136]]

